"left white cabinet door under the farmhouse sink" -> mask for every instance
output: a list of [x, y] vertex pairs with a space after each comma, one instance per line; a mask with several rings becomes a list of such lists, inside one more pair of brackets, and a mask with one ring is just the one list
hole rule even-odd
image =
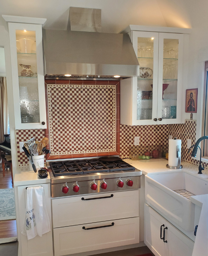
[[[160, 238], [160, 229], [165, 225], [165, 219], [145, 204], [144, 243], [156, 256], [165, 256], [167, 244]], [[162, 237], [163, 237], [162, 227]]]

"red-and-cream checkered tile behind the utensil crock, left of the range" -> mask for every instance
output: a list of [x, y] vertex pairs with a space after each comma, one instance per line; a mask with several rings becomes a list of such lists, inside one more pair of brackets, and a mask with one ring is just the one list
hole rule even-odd
[[18, 166], [29, 165], [29, 160], [25, 152], [20, 152], [20, 141], [28, 141], [31, 138], [35, 140], [42, 140], [45, 136], [45, 130], [16, 130], [16, 145], [17, 145], [17, 164]]

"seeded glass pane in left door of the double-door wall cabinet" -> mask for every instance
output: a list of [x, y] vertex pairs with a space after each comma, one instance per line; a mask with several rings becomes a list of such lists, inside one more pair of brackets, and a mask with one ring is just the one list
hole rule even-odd
[[152, 119], [154, 38], [138, 37], [137, 120]]

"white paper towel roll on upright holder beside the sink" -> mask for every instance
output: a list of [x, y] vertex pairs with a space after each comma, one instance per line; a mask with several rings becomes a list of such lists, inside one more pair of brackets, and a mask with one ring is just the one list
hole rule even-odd
[[179, 146], [180, 152], [179, 156], [181, 159], [181, 140], [179, 139], [170, 139], [169, 140], [169, 149], [168, 149], [168, 165], [169, 166], [177, 166], [178, 165], [178, 157], [176, 156], [176, 147]]

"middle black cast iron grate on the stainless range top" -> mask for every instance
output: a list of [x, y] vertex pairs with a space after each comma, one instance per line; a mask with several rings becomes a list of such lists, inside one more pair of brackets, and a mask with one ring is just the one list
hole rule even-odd
[[95, 172], [109, 172], [110, 170], [97, 159], [75, 160], [83, 174]]

